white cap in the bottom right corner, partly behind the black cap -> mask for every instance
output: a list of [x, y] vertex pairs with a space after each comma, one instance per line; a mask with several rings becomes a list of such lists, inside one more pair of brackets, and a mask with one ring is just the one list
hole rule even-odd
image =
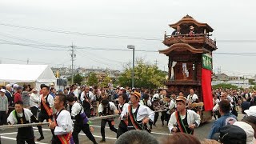
[[234, 122], [235, 126], [239, 126], [242, 128], [242, 130], [245, 130], [246, 132], [246, 144], [254, 144], [255, 138], [254, 138], [254, 129], [252, 126], [250, 126], [246, 122]]

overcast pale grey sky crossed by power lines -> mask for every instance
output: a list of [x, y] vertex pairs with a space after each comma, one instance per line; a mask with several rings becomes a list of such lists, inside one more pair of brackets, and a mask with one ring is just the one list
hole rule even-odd
[[[136, 50], [166, 49], [162, 44], [164, 32], [173, 31], [168, 25], [189, 14], [214, 28], [212, 38], [217, 39], [218, 46], [213, 57], [215, 72], [221, 67], [222, 72], [230, 75], [253, 75], [255, 10], [254, 0], [2, 0], [0, 60], [26, 64], [29, 58], [30, 64], [70, 66], [68, 46], [73, 42], [77, 46], [75, 66], [122, 70], [123, 63], [132, 62], [132, 51], [108, 49], [126, 49], [127, 45], [134, 45]], [[241, 40], [250, 42], [238, 42]], [[98, 48], [107, 50], [93, 50]], [[160, 69], [167, 68], [168, 58], [164, 54], [136, 51], [135, 56], [146, 62], [157, 60]]]

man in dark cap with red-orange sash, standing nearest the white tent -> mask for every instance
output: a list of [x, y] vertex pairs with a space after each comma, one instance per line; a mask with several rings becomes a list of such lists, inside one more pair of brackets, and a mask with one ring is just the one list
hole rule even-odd
[[[46, 85], [42, 86], [42, 94], [40, 95], [41, 98], [41, 111], [38, 114], [38, 121], [43, 122], [45, 119], [47, 122], [51, 122], [53, 118], [53, 106], [54, 106], [54, 98], [49, 94], [50, 87]], [[41, 141], [44, 139], [42, 129], [38, 129], [40, 133], [40, 138], [38, 138], [38, 141]], [[54, 131], [51, 130], [52, 134], [54, 134]]]

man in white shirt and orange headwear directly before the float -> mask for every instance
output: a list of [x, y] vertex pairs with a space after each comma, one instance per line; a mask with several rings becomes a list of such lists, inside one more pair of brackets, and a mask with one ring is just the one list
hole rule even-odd
[[177, 111], [171, 114], [168, 123], [170, 133], [194, 134], [194, 128], [201, 122], [200, 115], [193, 110], [186, 110], [186, 98], [178, 96], [176, 99]]

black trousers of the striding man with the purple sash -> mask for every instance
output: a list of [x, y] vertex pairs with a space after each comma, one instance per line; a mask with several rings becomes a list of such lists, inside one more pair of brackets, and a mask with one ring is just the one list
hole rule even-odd
[[81, 130], [83, 131], [83, 133], [86, 134], [87, 138], [89, 138], [91, 142], [94, 142], [94, 144], [97, 143], [93, 134], [91, 134], [90, 132], [90, 127], [88, 124], [86, 125], [74, 124], [74, 130], [73, 130], [72, 136], [75, 144], [79, 144], [78, 134], [80, 133]]

